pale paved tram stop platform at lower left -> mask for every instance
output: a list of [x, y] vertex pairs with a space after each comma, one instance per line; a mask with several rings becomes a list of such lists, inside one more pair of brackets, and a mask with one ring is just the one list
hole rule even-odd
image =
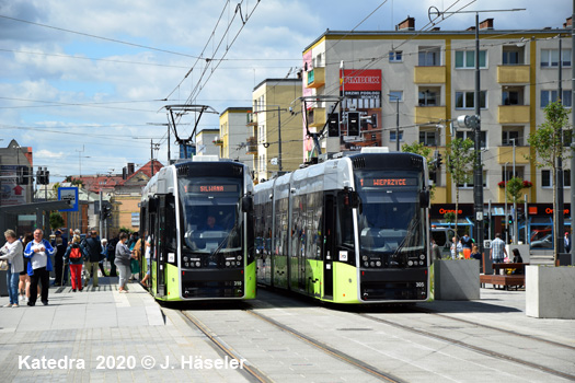
[[[81, 292], [50, 287], [48, 305], [38, 299], [32, 307], [1, 307], [9, 298], [0, 297], [1, 381], [246, 381], [177, 311], [164, 314], [138, 282], [119, 293], [117, 282], [100, 277]], [[208, 360], [222, 367], [206, 368]]]

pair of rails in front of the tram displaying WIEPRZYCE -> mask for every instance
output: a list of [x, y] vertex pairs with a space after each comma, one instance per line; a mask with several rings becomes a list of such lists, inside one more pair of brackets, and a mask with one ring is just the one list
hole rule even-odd
[[[416, 311], [418, 311], [418, 310], [416, 310]], [[575, 350], [575, 347], [571, 347], [568, 345], [559, 344], [559, 343], [547, 340], [547, 339], [541, 339], [539, 337], [531, 337], [531, 336], [518, 334], [518, 333], [506, 330], [506, 329], [499, 329], [499, 328], [496, 328], [496, 327], [493, 327], [493, 326], [485, 326], [485, 325], [481, 325], [481, 324], [478, 324], [478, 323], [472, 322], [472, 321], [453, 318], [453, 317], [448, 316], [448, 315], [440, 315], [440, 314], [435, 314], [435, 313], [432, 313], [432, 314], [444, 316], [446, 318], [450, 318], [450, 320], [453, 320], [453, 321], [460, 321], [460, 322], [464, 322], [464, 323], [468, 323], [468, 324], [482, 326], [482, 327], [494, 329], [494, 330], [499, 330], [499, 332], [503, 332], [503, 333], [506, 333], [506, 334], [509, 334], [509, 335], [524, 337], [524, 338], [527, 338], [527, 339], [530, 339], [530, 340], [547, 343], [547, 344], [551, 344], [553, 346], [565, 347], [565, 348], [568, 348], [571, 350]], [[485, 356], [488, 356], [488, 357], [492, 357], [492, 358], [496, 358], [496, 359], [514, 362], [514, 363], [517, 363], [517, 364], [520, 364], [520, 365], [524, 365], [524, 367], [529, 367], [529, 368], [537, 369], [539, 371], [542, 371], [542, 372], [545, 372], [545, 373], [549, 373], [549, 374], [553, 374], [555, 376], [560, 376], [560, 378], [563, 378], [563, 379], [575, 381], [575, 375], [566, 373], [566, 372], [563, 372], [563, 371], [559, 371], [559, 370], [555, 370], [555, 369], [551, 369], [551, 368], [545, 367], [545, 365], [540, 364], [540, 363], [530, 362], [530, 361], [527, 361], [527, 360], [524, 360], [524, 359], [520, 359], [520, 358], [516, 358], [516, 357], [513, 357], [513, 356], [509, 356], [509, 355], [505, 355], [505, 353], [502, 353], [502, 352], [490, 350], [490, 349], [484, 348], [484, 347], [479, 347], [479, 346], [475, 346], [475, 345], [471, 345], [469, 343], [457, 340], [457, 339], [453, 339], [453, 338], [450, 338], [450, 337], [446, 337], [446, 336], [442, 336], [442, 335], [439, 335], [439, 334], [435, 334], [435, 333], [432, 333], [429, 330], [415, 328], [413, 326], [404, 325], [404, 324], [401, 324], [401, 323], [398, 323], [398, 322], [394, 322], [394, 321], [389, 321], [389, 320], [384, 320], [384, 318], [381, 318], [381, 317], [376, 317], [372, 314], [358, 313], [357, 315], [359, 315], [359, 316], [361, 316], [364, 318], [368, 318], [368, 320], [373, 321], [373, 322], [383, 323], [383, 324], [387, 324], [387, 325], [395, 327], [395, 328], [401, 328], [401, 329], [410, 332], [410, 333], [414, 333], [414, 334], [422, 335], [422, 336], [425, 336], [425, 337], [428, 337], [428, 338], [441, 340], [441, 341], [445, 341], [445, 343], [448, 343], [448, 344], [451, 344], [451, 345], [456, 345], [458, 347], [463, 347], [463, 348], [470, 349], [470, 350], [472, 350], [474, 352], [480, 352], [482, 355], [485, 355]]]

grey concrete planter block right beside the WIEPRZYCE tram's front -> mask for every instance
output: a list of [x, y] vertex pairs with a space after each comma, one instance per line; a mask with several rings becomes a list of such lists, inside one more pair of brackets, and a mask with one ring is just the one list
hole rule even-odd
[[480, 264], [478, 259], [434, 260], [435, 299], [471, 301], [480, 299]]

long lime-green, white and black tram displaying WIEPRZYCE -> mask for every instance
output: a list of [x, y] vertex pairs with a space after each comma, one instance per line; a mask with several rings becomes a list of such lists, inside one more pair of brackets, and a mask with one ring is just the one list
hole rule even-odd
[[334, 303], [427, 301], [428, 207], [427, 164], [411, 153], [341, 155], [261, 183], [257, 281]]

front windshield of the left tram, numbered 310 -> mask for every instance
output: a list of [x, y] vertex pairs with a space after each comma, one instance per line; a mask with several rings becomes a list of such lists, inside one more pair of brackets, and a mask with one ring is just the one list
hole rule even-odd
[[215, 255], [241, 251], [238, 210], [241, 179], [181, 178], [179, 183], [185, 253]]

